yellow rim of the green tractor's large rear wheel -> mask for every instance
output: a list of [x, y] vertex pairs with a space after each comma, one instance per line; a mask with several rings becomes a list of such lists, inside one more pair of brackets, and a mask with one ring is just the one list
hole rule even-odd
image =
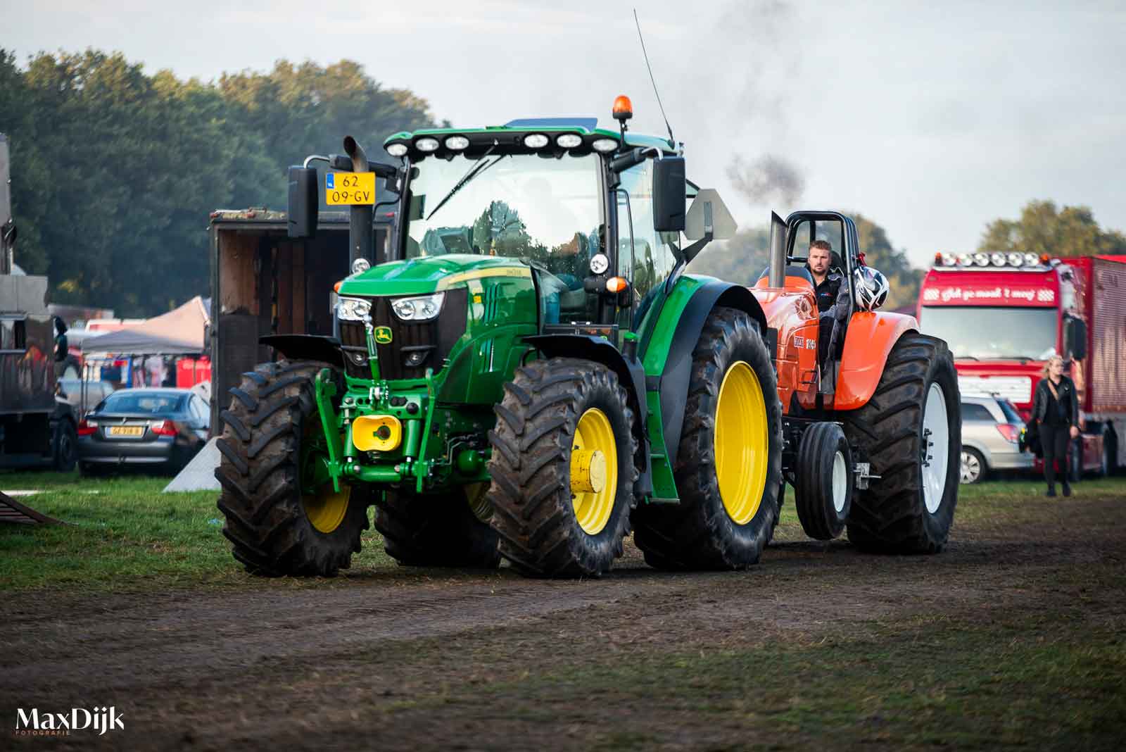
[[736, 525], [750, 522], [759, 511], [769, 449], [762, 386], [739, 360], [724, 374], [715, 406], [715, 475], [723, 508]]

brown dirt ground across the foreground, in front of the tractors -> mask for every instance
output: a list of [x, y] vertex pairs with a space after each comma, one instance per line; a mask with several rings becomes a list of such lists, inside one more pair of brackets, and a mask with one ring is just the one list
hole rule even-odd
[[[928, 557], [787, 525], [748, 572], [660, 573], [628, 547], [582, 582], [366, 570], [360, 556], [312, 589], [7, 594], [5, 720], [113, 705], [125, 731], [5, 729], [0, 749], [1112, 749], [1126, 733], [1123, 664], [1103, 663], [1126, 626], [1123, 499], [1052, 502], [971, 512]], [[1093, 673], [1052, 679], [1052, 656], [1084, 635], [1103, 651], [1096, 668], [1064, 670]], [[975, 683], [991, 672], [1000, 683]], [[1027, 686], [1036, 715], [1042, 681], [1076, 693], [1081, 722], [1015, 719], [1006, 695]]]

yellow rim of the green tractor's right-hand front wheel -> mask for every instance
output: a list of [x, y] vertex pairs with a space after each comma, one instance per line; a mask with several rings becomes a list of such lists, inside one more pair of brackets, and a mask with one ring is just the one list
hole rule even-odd
[[571, 499], [579, 527], [598, 535], [610, 521], [618, 491], [618, 446], [601, 410], [582, 413], [571, 445]]

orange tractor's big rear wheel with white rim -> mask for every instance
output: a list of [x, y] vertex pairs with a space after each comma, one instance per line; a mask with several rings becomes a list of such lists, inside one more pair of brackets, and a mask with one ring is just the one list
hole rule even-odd
[[849, 540], [866, 550], [942, 550], [962, 457], [958, 378], [946, 342], [914, 332], [901, 337], [868, 403], [839, 414], [850, 442], [881, 476], [852, 496]]

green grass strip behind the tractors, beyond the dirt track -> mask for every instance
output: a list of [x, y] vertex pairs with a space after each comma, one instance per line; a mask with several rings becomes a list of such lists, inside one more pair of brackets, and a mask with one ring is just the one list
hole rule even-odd
[[[65, 526], [0, 526], [0, 590], [95, 589], [144, 591], [172, 587], [248, 587], [248, 578], [222, 536], [215, 492], [161, 493], [168, 478], [126, 476], [83, 478], [78, 473], [0, 473], [0, 490], [36, 489], [28, 505]], [[1019, 523], [1035, 517], [1043, 485], [1034, 481], [998, 481], [962, 486], [956, 529]], [[1126, 498], [1126, 480], [1087, 481], [1070, 503], [1083, 499]], [[1035, 502], [1035, 503], [1029, 503]], [[1056, 499], [1055, 503], [1069, 503]], [[781, 526], [796, 529], [792, 502]], [[365, 532], [364, 553], [355, 566], [394, 567], [374, 530]], [[309, 581], [287, 580], [288, 587]]]

